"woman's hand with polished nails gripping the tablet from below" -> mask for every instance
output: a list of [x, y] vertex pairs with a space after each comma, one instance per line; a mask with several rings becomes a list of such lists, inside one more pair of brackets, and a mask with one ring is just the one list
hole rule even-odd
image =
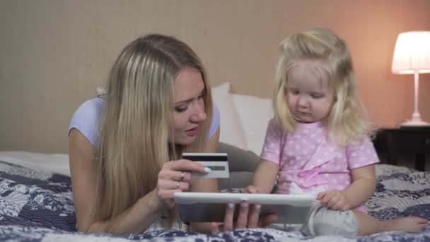
[[241, 202], [238, 206], [240, 209], [236, 224], [233, 222], [235, 204], [228, 203], [226, 206], [226, 215], [223, 223], [211, 223], [212, 234], [220, 231], [228, 231], [233, 229], [251, 229], [265, 227], [272, 224], [278, 219], [277, 214], [267, 214], [265, 217], [260, 217], [260, 204], [249, 204]]

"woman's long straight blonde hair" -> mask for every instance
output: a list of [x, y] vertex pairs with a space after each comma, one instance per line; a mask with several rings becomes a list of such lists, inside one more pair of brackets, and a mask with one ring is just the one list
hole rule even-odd
[[[202, 74], [207, 113], [207, 121], [190, 146], [174, 144], [169, 136], [173, 134], [174, 81], [185, 67]], [[202, 62], [189, 46], [170, 36], [146, 35], [127, 45], [110, 71], [106, 91], [95, 212], [95, 219], [103, 221], [117, 217], [155, 189], [164, 163], [179, 159], [185, 149], [201, 151], [212, 117], [211, 91]], [[170, 226], [174, 217], [172, 209]]]

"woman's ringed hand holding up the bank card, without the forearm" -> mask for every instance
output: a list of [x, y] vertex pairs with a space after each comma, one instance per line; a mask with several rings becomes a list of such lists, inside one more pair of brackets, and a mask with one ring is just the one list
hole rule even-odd
[[161, 209], [173, 207], [173, 195], [175, 192], [190, 190], [192, 183], [192, 172], [209, 173], [210, 168], [201, 163], [180, 159], [165, 163], [158, 173], [156, 187], [156, 198]]

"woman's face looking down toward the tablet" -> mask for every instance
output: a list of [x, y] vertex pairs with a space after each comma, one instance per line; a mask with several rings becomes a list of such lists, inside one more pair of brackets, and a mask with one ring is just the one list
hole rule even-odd
[[204, 113], [204, 82], [197, 69], [185, 67], [175, 79], [173, 89], [173, 141], [188, 145], [194, 142]]

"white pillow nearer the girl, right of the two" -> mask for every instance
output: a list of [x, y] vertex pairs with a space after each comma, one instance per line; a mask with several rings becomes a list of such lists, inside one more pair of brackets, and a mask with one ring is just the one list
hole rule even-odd
[[240, 94], [231, 96], [240, 125], [243, 127], [245, 145], [250, 151], [260, 155], [265, 142], [267, 124], [273, 117], [272, 100]]

